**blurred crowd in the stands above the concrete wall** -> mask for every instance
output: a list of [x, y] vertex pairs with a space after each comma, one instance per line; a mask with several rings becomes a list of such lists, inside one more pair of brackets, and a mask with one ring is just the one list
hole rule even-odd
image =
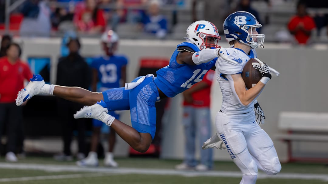
[[[266, 42], [299, 42], [304, 32], [311, 39], [305, 43], [326, 42], [328, 3], [324, 0], [26, 0], [14, 1], [10, 13], [6, 0], [0, 1], [0, 30], [5, 31], [6, 16], [15, 36], [60, 37], [74, 31], [95, 37], [112, 29], [120, 38], [181, 39], [186, 27], [195, 20], [208, 20], [220, 27], [234, 11], [254, 14], [263, 27]], [[20, 3], [23, 2], [23, 3]], [[8, 17], [9, 15], [9, 17]], [[311, 26], [300, 29], [293, 17], [309, 16]], [[295, 21], [297, 21], [295, 23]], [[308, 22], [306, 22], [308, 23]], [[309, 32], [309, 30], [312, 30]], [[221, 33], [222, 29], [219, 29]]]

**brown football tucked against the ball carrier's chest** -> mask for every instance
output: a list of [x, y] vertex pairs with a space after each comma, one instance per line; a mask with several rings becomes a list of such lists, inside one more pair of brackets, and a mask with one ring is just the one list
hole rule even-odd
[[258, 63], [256, 59], [250, 59], [247, 61], [243, 68], [242, 77], [246, 84], [247, 89], [251, 89], [262, 78], [261, 73], [253, 68], [252, 63]]

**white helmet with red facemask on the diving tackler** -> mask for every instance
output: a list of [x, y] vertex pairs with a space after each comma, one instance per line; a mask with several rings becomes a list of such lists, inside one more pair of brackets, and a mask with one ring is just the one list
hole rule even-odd
[[[207, 38], [214, 38], [215, 44], [207, 42]], [[217, 45], [218, 41], [221, 40], [219, 33], [217, 32], [216, 26], [208, 21], [196, 21], [189, 25], [187, 28], [187, 42], [194, 43], [200, 50], [206, 47], [219, 48]]]

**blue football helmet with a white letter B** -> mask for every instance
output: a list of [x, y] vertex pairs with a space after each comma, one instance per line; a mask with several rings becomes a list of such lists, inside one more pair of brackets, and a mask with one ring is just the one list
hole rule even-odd
[[[256, 17], [247, 11], [237, 11], [230, 14], [223, 23], [227, 42], [237, 40], [255, 49], [263, 48], [264, 34], [258, 34], [256, 28], [262, 27]], [[254, 34], [255, 33], [255, 34]]]

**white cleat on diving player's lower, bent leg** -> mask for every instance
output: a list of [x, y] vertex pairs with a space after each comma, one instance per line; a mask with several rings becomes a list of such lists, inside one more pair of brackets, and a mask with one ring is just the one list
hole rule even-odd
[[92, 106], [84, 106], [81, 110], [76, 111], [74, 118], [93, 118], [99, 120], [99, 117], [107, 114], [107, 112], [106, 103], [101, 100]]

